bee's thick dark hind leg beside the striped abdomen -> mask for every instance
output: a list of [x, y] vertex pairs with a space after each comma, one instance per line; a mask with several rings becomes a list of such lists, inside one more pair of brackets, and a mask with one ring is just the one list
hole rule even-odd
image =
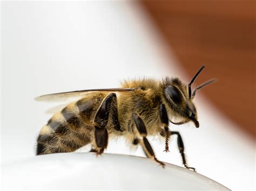
[[96, 140], [96, 151], [97, 154], [102, 154], [107, 147], [107, 142], [109, 139], [109, 135], [106, 130], [107, 121], [109, 120], [109, 113], [111, 109], [111, 103], [113, 98], [116, 97], [116, 94], [112, 93], [105, 97], [102, 104], [100, 105], [95, 119], [95, 140]]

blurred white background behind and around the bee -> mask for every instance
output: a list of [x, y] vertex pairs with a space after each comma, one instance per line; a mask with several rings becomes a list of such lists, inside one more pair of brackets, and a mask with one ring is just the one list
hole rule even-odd
[[[190, 80], [178, 62], [163, 53], [163, 41], [143, 9], [132, 5], [2, 2], [2, 161], [35, 154], [36, 136], [51, 117], [44, 111], [54, 106], [34, 102], [38, 95], [117, 87], [123, 79], [142, 76], [179, 75], [185, 82]], [[234, 131], [234, 124], [200, 93], [195, 102], [199, 129], [170, 125], [184, 138], [188, 165], [232, 190], [254, 190], [254, 143]], [[163, 142], [157, 138], [150, 142], [159, 160], [181, 166], [175, 138], [167, 154]], [[123, 140], [112, 140], [107, 152], [144, 155], [140, 147], [131, 152], [126, 145]]]

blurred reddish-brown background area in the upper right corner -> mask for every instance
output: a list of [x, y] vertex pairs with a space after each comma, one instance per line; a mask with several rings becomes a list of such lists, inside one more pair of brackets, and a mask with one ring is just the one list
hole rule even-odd
[[[255, 1], [142, 1], [172, 51], [209, 100], [255, 138]], [[197, 84], [199, 84], [197, 82]]]

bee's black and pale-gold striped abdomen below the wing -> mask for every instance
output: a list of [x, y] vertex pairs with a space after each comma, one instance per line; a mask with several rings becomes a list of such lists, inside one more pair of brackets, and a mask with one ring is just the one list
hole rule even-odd
[[53, 115], [39, 133], [36, 154], [73, 152], [91, 143], [93, 117], [103, 98], [87, 96]]

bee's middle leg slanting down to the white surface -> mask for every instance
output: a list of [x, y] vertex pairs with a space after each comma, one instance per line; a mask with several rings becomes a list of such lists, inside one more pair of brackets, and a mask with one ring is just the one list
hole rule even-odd
[[156, 155], [154, 154], [153, 148], [151, 147], [149, 140], [147, 140], [147, 130], [145, 127], [144, 122], [142, 121], [142, 118], [140, 118], [136, 114], [132, 114], [132, 118], [136, 124], [137, 130], [139, 131], [140, 136], [142, 136], [142, 140], [140, 141], [140, 144], [143, 146], [143, 150], [146, 153], [148, 158], [154, 159], [156, 162], [158, 162], [162, 167], [165, 166], [164, 162], [159, 161], [156, 158]]

